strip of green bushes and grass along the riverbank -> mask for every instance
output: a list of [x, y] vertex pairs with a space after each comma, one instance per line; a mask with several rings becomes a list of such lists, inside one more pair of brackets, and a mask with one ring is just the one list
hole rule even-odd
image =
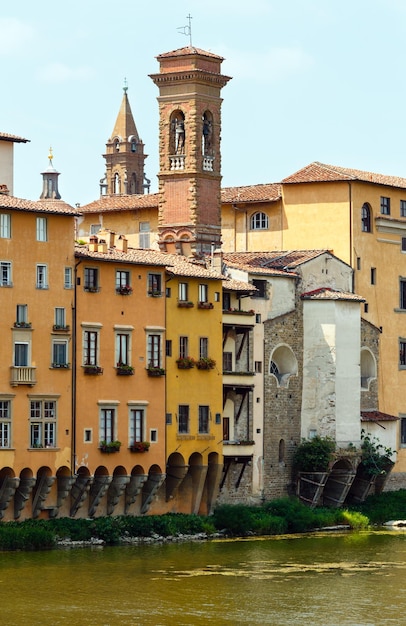
[[361, 530], [394, 519], [406, 519], [406, 490], [371, 496], [363, 504], [347, 509], [311, 509], [297, 498], [280, 498], [262, 506], [222, 505], [210, 517], [173, 513], [3, 522], [0, 550], [42, 550], [63, 541], [96, 540], [117, 545], [131, 538], [159, 541], [168, 537], [204, 538], [216, 533], [230, 537], [280, 535], [336, 526]]

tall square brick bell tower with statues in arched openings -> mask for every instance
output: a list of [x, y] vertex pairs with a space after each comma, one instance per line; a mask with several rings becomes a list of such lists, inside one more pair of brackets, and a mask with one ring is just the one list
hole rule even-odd
[[203, 256], [221, 243], [221, 103], [224, 60], [189, 46], [157, 57], [159, 246]]

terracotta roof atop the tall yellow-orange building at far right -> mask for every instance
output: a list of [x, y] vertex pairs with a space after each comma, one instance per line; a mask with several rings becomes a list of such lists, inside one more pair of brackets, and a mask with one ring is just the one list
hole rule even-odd
[[291, 174], [282, 180], [283, 184], [289, 183], [322, 183], [339, 181], [360, 181], [389, 187], [406, 189], [406, 178], [398, 176], [385, 176], [374, 174], [337, 165], [326, 165], [315, 161], [303, 169]]

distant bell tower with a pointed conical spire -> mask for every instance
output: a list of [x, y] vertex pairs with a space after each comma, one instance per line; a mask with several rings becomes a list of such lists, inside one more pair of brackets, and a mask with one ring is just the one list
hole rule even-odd
[[[124, 86], [123, 99], [111, 138], [106, 143], [106, 176], [100, 181], [102, 195], [143, 194], [149, 188], [144, 184], [144, 144], [139, 138]], [[145, 179], [146, 180], [146, 179]]]

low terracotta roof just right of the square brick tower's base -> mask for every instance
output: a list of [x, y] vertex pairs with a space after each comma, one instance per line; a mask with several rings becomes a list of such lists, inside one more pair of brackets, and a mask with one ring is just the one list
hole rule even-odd
[[288, 250], [284, 252], [225, 252], [224, 263], [252, 274], [296, 275], [294, 270], [328, 250]]

